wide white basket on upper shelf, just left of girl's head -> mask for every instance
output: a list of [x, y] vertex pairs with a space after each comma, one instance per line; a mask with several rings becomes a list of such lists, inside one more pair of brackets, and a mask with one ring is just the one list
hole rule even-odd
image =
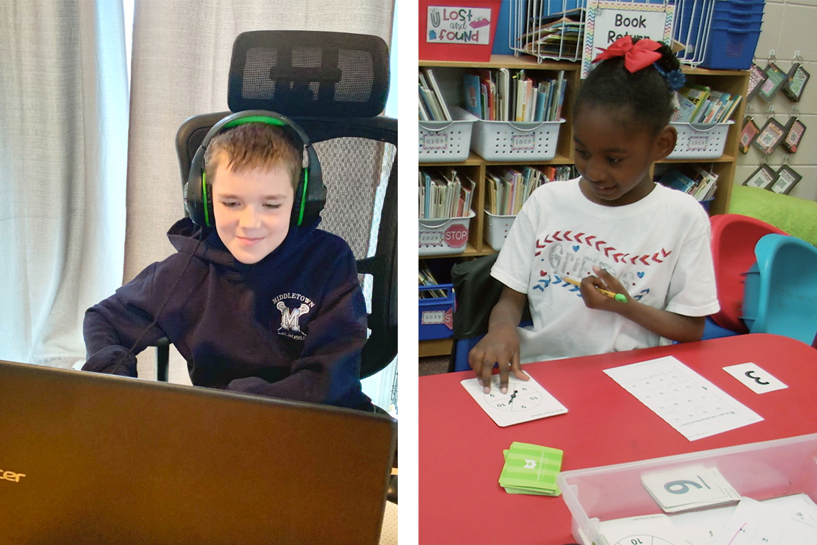
[[548, 122], [478, 120], [471, 148], [485, 161], [550, 161], [564, 119]]

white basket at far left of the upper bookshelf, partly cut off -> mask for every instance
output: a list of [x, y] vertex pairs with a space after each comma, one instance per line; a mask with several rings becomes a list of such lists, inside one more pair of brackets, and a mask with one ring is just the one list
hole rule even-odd
[[468, 158], [476, 117], [457, 106], [450, 111], [454, 121], [419, 122], [420, 162], [463, 162]]

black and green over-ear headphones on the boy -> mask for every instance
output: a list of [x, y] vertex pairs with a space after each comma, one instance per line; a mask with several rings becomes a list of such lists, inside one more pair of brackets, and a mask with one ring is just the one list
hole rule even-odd
[[243, 123], [268, 123], [280, 126], [291, 135], [296, 142], [303, 144], [303, 162], [301, 163], [301, 175], [298, 178], [295, 189], [295, 202], [292, 203], [292, 215], [289, 219], [291, 226], [311, 224], [324, 210], [326, 203], [326, 187], [320, 172], [320, 162], [315, 148], [312, 148], [309, 137], [291, 119], [279, 113], [267, 110], [247, 110], [233, 113], [220, 122], [212, 126], [204, 136], [199, 149], [190, 162], [190, 175], [185, 184], [185, 208], [193, 223], [203, 227], [214, 227], [216, 221], [213, 217], [211, 188], [208, 184], [207, 175], [204, 171], [204, 153], [208, 144], [216, 135], [234, 126]]

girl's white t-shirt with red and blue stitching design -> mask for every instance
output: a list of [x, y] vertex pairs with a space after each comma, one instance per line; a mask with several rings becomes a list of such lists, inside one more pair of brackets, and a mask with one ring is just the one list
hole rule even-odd
[[667, 344], [615, 312], [587, 308], [578, 286], [561, 280], [610, 272], [642, 304], [684, 316], [720, 308], [703, 207], [656, 184], [638, 202], [602, 206], [578, 178], [551, 182], [525, 202], [491, 276], [528, 295], [534, 326], [520, 328], [520, 361], [544, 361]]

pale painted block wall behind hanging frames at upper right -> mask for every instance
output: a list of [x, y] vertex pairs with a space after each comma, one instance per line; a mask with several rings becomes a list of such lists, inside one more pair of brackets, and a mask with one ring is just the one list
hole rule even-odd
[[[797, 153], [788, 156], [788, 164], [803, 176], [803, 179], [789, 193], [810, 201], [817, 201], [817, 0], [797, 0], [797, 2], [775, 2], [766, 0], [766, 9], [761, 26], [761, 37], [755, 50], [755, 62], [765, 68], [770, 51], [775, 51], [775, 64], [784, 72], [792, 67], [795, 51], [800, 51], [801, 64], [810, 74], [809, 82], [798, 103], [792, 103], [785, 95], [778, 93], [766, 104], [755, 97], [751, 105], [758, 126], [766, 122], [767, 109], [774, 109], [774, 117], [785, 125], [792, 106], [797, 106], [801, 121], [806, 125], [806, 133], [801, 140]], [[742, 122], [742, 120], [741, 120]], [[778, 148], [768, 157], [769, 165], [777, 170], [786, 155], [783, 148]], [[746, 155], [740, 154], [735, 184], [743, 184], [757, 169], [762, 153], [752, 148]]]

